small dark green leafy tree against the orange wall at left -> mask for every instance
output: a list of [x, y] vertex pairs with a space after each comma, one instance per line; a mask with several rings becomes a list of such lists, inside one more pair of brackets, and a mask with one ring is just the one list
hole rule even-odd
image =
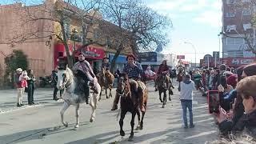
[[[26, 54], [22, 50], [13, 50], [12, 54], [5, 58], [6, 63], [6, 74], [5, 78], [11, 76], [10, 82], [14, 83], [14, 71], [17, 68], [22, 68], [22, 70], [28, 69], [28, 59]], [[13, 85], [12, 85], [13, 86]]]

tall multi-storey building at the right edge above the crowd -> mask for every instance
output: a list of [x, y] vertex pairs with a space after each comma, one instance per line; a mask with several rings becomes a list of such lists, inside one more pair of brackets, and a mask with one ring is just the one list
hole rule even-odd
[[250, 0], [222, 0], [222, 61], [229, 66], [253, 62], [255, 54], [248, 49], [255, 46], [255, 29], [251, 24], [256, 7]]

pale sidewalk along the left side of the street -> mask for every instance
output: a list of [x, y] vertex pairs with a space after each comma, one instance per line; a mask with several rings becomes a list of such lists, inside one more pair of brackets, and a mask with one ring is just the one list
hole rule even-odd
[[[53, 88], [38, 88], [34, 90], [34, 103], [32, 106], [42, 106], [42, 104], [56, 102], [53, 100]], [[17, 90], [0, 90], [0, 114], [10, 110], [17, 110], [29, 107], [27, 105], [27, 93], [24, 94], [22, 104], [24, 106], [17, 107]], [[57, 94], [59, 96], [59, 93]]]

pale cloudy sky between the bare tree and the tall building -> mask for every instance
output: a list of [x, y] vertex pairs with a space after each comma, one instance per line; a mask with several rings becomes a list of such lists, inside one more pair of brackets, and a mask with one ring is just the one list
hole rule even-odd
[[[194, 49], [197, 62], [205, 54], [219, 50], [218, 34], [222, 30], [221, 0], [146, 0], [146, 5], [168, 16], [173, 28], [168, 30], [170, 44], [163, 53], [185, 54], [186, 60], [194, 62]], [[222, 44], [221, 44], [222, 50]]]

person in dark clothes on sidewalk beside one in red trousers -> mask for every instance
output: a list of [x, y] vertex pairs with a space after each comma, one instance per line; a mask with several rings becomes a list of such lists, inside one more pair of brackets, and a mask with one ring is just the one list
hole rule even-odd
[[28, 77], [29, 80], [27, 80], [27, 102], [31, 106], [34, 105], [34, 82], [36, 81], [33, 70], [28, 70]]

